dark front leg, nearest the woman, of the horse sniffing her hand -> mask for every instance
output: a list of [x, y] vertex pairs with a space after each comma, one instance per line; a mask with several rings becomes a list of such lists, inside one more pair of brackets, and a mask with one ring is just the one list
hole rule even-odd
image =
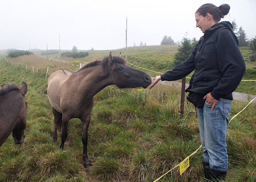
[[89, 127], [90, 121], [91, 121], [91, 113], [87, 114], [84, 117], [84, 119], [82, 119], [82, 124], [83, 124], [82, 142], [83, 142], [83, 158], [84, 158], [85, 168], [92, 166], [87, 156], [88, 127]]

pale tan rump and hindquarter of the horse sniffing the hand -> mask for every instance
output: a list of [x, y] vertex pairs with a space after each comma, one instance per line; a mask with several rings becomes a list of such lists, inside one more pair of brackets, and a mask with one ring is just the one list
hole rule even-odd
[[66, 70], [58, 70], [52, 73], [48, 78], [47, 95], [54, 109], [61, 112], [60, 97], [61, 91], [65, 88], [65, 81], [72, 73]]

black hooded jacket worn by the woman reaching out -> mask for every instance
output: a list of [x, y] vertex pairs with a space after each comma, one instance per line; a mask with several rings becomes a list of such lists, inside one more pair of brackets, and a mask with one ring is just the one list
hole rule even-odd
[[161, 80], [179, 80], [195, 69], [186, 92], [233, 100], [245, 73], [245, 63], [238, 40], [228, 21], [214, 24], [206, 30], [196, 44], [192, 54], [182, 64], [161, 75]]

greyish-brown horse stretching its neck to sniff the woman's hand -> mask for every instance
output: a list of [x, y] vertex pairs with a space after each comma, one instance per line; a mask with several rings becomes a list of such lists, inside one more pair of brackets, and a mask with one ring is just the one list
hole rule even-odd
[[72, 118], [82, 120], [84, 167], [91, 165], [87, 157], [87, 132], [93, 96], [108, 85], [119, 88], [147, 88], [151, 84], [151, 78], [146, 73], [127, 66], [120, 55], [112, 57], [110, 52], [109, 57], [89, 62], [73, 74], [58, 70], [48, 78], [47, 94], [52, 105], [55, 126], [53, 141], [56, 143], [57, 128], [62, 127], [60, 148], [63, 149], [68, 136], [68, 121]]

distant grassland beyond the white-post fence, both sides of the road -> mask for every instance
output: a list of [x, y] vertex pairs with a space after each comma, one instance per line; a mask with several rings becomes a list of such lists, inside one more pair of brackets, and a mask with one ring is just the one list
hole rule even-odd
[[[128, 47], [127, 51], [127, 61], [129, 63], [132, 63], [134, 65], [154, 70], [157, 72], [164, 73], [167, 70], [171, 70], [173, 68], [172, 62], [174, 59], [174, 54], [177, 52], [178, 46], [175, 45], [161, 45], [161, 46], [138, 46], [138, 47]], [[248, 62], [248, 54], [249, 50], [248, 47], [241, 47], [240, 48], [242, 55], [244, 56], [245, 64], [246, 64], [246, 73], [243, 77], [244, 80], [256, 80], [256, 62]], [[66, 51], [66, 50], [65, 50]], [[46, 73], [47, 67], [50, 65], [52, 70], [49, 70], [49, 73], [52, 73], [55, 69], [59, 67], [65, 67], [64, 69], [67, 69], [68, 71], [76, 71], [79, 67], [72, 66], [72, 62], [79, 61], [77, 64], [85, 64], [86, 62], [90, 62], [95, 59], [103, 59], [105, 56], [109, 55], [109, 52], [112, 51], [113, 56], [118, 56], [119, 53], [122, 53], [122, 57], [125, 58], [125, 49], [116, 49], [116, 50], [94, 50], [94, 51], [88, 51], [89, 56], [86, 56], [84, 58], [67, 58], [67, 57], [59, 57], [59, 54], [49, 55], [49, 58], [54, 59], [61, 59], [64, 61], [71, 62], [68, 63], [61, 63], [61, 62], [55, 62], [55, 61], [46, 61], [46, 59], [40, 58], [35, 55], [31, 56], [21, 56], [15, 59], [9, 59], [9, 62], [13, 62], [15, 64], [18, 64], [20, 62], [21, 64], [27, 64], [29, 62], [29, 66], [32, 67], [44, 67], [44, 69], [39, 69], [40, 72]], [[37, 53], [36, 55], [40, 55], [40, 53]], [[46, 57], [46, 55], [42, 55]], [[25, 63], [26, 62], [26, 63]], [[32, 63], [34, 65], [32, 65]], [[36, 66], [35, 66], [36, 65]], [[132, 66], [134, 67], [134, 66]], [[137, 68], [137, 67], [134, 67]], [[140, 68], [137, 68], [140, 69]], [[145, 71], [148, 75], [151, 77], [155, 77], [156, 75], [159, 75], [159, 73], [148, 71], [144, 69], [140, 69]], [[193, 72], [188, 75], [188, 77], [192, 76]], [[186, 82], [189, 83], [189, 78], [187, 78]], [[181, 80], [178, 80], [181, 81]], [[253, 94], [256, 95], [256, 82], [241, 82], [236, 89], [236, 92], [241, 93], [247, 93], [247, 94]]]

